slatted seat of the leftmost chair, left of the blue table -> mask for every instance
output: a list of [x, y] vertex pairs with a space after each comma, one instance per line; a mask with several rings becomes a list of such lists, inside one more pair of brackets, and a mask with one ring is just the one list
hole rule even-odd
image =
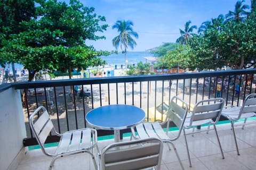
[[77, 150], [90, 149], [91, 130], [80, 129], [63, 133], [56, 154], [65, 154]]

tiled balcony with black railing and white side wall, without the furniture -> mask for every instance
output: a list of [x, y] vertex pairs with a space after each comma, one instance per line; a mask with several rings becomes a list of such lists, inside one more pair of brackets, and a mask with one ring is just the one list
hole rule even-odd
[[[186, 100], [192, 108], [199, 100], [217, 97], [215, 90], [217, 81], [222, 84], [221, 97], [225, 99], [226, 105], [240, 105], [245, 96], [255, 92], [254, 74], [256, 74], [256, 70], [251, 69], [4, 84], [0, 87], [2, 111], [0, 169], [46, 169], [49, 165], [50, 159], [42, 155], [41, 150], [28, 149], [28, 146], [37, 144], [29, 129], [28, 117], [40, 105], [44, 105], [51, 113], [55, 129], [59, 132], [90, 127], [84, 119], [86, 113], [93, 108], [109, 104], [135, 105], [145, 111], [146, 121], [162, 121], [163, 109], [159, 110], [157, 106], [163, 102], [168, 103], [172, 96], [178, 95]], [[223, 83], [226, 79], [228, 80], [227, 87]], [[236, 83], [241, 84], [237, 96], [234, 86]], [[82, 88], [81, 97], [72, 93], [77, 85]], [[21, 96], [23, 91], [27, 92]], [[86, 96], [88, 91], [90, 97]], [[227, 168], [228, 166], [230, 167], [228, 169], [237, 167], [239, 167], [238, 169], [253, 169], [253, 160], [256, 158], [256, 154], [253, 154], [256, 146], [254, 142], [256, 132], [253, 131], [253, 127], [254, 125], [250, 125], [245, 130], [237, 129], [238, 137], [243, 137], [243, 140], [239, 140], [238, 143], [241, 155], [237, 156], [235, 145], [232, 145], [234, 141], [230, 124], [218, 125], [220, 141], [225, 151], [224, 160], [218, 154], [218, 148], [214, 149], [218, 146], [215, 146], [216, 141], [211, 138], [211, 133], [189, 137], [189, 145], [191, 145], [191, 152], [194, 155], [193, 168], [188, 167], [186, 148], [183, 137], [181, 137], [177, 146], [185, 168], [211, 169], [213, 167], [222, 168], [222, 166]], [[121, 132], [124, 133], [123, 140], [129, 140], [127, 137], [129, 132], [129, 129]], [[175, 133], [175, 131], [172, 132]], [[111, 137], [112, 134], [111, 131], [98, 131], [99, 138], [109, 137], [109, 135]], [[99, 140], [100, 148], [113, 142], [113, 139], [104, 139]], [[54, 135], [47, 138], [49, 143], [56, 140]], [[204, 152], [204, 145], [209, 140], [212, 146], [210, 150]], [[172, 169], [172, 167], [178, 166], [172, 151], [170, 155], [169, 153], [170, 151], [165, 150], [162, 169]], [[89, 163], [89, 157], [86, 155], [74, 156], [57, 160], [55, 168], [93, 169], [91, 164], [87, 163]]]

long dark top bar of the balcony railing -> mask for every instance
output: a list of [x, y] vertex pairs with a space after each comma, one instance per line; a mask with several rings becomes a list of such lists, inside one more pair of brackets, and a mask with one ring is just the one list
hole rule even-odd
[[[44, 87], [61, 87], [72, 86], [75, 84], [99, 84], [99, 83], [122, 83], [122, 82], [139, 82], [139, 81], [157, 81], [157, 80], [175, 80], [175, 79], [195, 79], [206, 77], [217, 77], [223, 75], [241, 75], [256, 74], [256, 69], [241, 69], [228, 71], [204, 71], [188, 73], [171, 73], [171, 74], [153, 74], [137, 76], [119, 76], [103, 78], [85, 78], [85, 79], [62, 79], [50, 81], [32, 81], [10, 83], [15, 89], [44, 88]], [[0, 86], [1, 87], [1, 86]]]

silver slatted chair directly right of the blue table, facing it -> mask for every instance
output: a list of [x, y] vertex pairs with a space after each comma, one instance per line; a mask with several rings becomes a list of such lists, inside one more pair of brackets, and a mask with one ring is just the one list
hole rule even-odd
[[[136, 135], [134, 128], [131, 128], [132, 137], [135, 139], [158, 138], [164, 143], [171, 144], [175, 151], [175, 154], [177, 155], [181, 168], [184, 169], [179, 154], [173, 144], [173, 141], [177, 140], [180, 137], [182, 127], [187, 116], [187, 112], [188, 104], [178, 96], [174, 96], [170, 101], [169, 109], [166, 113], [166, 118], [164, 122], [143, 122], [136, 126], [138, 135]], [[170, 122], [173, 122], [179, 129], [178, 134], [175, 135], [173, 138], [169, 137], [168, 135]], [[165, 123], [166, 132], [164, 132], [162, 128], [162, 125], [164, 125]], [[171, 150], [169, 145], [168, 147], [169, 150]]]

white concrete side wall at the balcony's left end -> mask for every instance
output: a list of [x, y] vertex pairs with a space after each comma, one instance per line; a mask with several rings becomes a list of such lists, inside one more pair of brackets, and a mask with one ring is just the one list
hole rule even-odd
[[26, 138], [20, 90], [0, 92], [0, 138], [0, 169], [10, 169]]

